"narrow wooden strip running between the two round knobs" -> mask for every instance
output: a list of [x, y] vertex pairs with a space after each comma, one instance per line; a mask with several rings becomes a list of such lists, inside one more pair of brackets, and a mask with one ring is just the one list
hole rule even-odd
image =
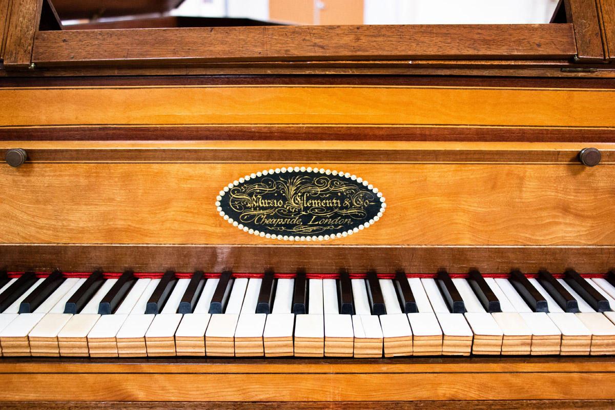
[[[455, 146], [443, 146], [442, 143], [394, 143], [383, 141], [382, 146], [370, 144], [356, 148], [351, 141], [332, 142], [327, 148], [314, 143], [297, 143], [295, 141], [272, 142], [271, 146], [263, 144], [229, 148], [221, 146], [198, 146], [198, 144], [177, 144], [168, 147], [152, 147], [151, 144], [119, 144], [114, 148], [103, 148], [90, 144], [80, 147], [79, 143], [63, 143], [56, 147], [37, 147], [32, 142], [0, 143], [0, 157], [4, 157], [9, 148], [26, 149], [28, 162], [262, 162], [267, 158], [271, 162], [333, 162], [370, 164], [374, 162], [401, 163], [498, 163], [498, 164], [579, 164], [578, 154], [586, 148], [579, 144], [543, 144], [541, 146], [510, 146], [492, 143], [491, 146], [478, 146], [473, 143], [451, 143]], [[307, 146], [306, 146], [307, 144]], [[479, 143], [480, 144], [480, 143]], [[526, 143], [527, 144], [527, 143]], [[46, 144], [52, 145], [52, 144]], [[62, 147], [65, 145], [65, 147]], [[304, 148], [299, 148], [303, 145]], [[337, 147], [336, 147], [337, 145]], [[396, 146], [397, 145], [397, 146]], [[6, 147], [6, 148], [4, 148]], [[593, 148], [600, 149], [600, 164], [615, 163], [615, 146], [613, 144], [593, 143]]]

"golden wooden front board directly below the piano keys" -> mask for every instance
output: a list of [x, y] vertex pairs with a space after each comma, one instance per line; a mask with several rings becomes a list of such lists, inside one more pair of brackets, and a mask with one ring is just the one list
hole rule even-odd
[[6, 358], [0, 363], [2, 401], [608, 400], [613, 370], [611, 358]]

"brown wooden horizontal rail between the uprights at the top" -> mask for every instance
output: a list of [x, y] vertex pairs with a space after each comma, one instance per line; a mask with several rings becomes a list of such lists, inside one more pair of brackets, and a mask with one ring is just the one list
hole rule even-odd
[[[568, 58], [572, 25], [262, 26], [39, 31], [38, 66], [365, 58]], [[144, 47], [146, 45], [146, 47]]]

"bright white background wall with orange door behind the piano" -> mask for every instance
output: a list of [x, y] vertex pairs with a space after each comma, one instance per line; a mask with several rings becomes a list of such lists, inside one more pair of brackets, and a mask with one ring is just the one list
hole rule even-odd
[[174, 15], [290, 24], [548, 23], [558, 0], [186, 0]]

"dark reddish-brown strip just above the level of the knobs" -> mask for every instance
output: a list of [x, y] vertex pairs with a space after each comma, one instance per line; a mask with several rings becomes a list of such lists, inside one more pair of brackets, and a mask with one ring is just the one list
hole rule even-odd
[[397, 125], [92, 125], [0, 127], [0, 141], [517, 141], [615, 142], [614, 128], [467, 127]]

